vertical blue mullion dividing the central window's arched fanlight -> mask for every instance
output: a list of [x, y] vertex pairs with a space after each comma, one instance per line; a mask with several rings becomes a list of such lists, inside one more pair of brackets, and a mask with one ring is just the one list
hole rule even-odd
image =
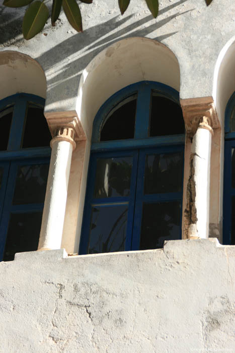
[[135, 139], [148, 137], [148, 125], [150, 117], [151, 87], [144, 84], [138, 89], [136, 117], [135, 117]]

